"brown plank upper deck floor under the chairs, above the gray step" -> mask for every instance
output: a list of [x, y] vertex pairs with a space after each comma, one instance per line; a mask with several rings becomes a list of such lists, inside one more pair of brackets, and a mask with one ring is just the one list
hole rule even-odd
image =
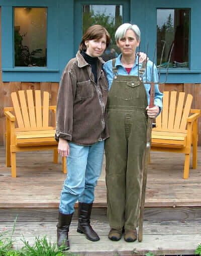
[[[200, 153], [199, 147], [197, 169], [190, 169], [189, 178], [184, 180], [183, 154], [152, 151], [145, 207], [201, 206]], [[62, 172], [61, 158], [58, 164], [52, 161], [51, 150], [17, 153], [17, 178], [12, 178], [11, 168], [5, 166], [5, 148], [0, 147], [0, 193], [4, 195], [0, 197], [0, 208], [58, 208], [66, 175]], [[107, 206], [105, 161], [93, 206]]]

